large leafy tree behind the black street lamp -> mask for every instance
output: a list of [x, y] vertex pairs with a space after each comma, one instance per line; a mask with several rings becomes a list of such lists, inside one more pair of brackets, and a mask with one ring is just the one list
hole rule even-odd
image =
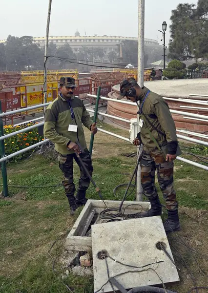
[[181, 61], [208, 56], [208, 1], [179, 4], [170, 20], [169, 57]]

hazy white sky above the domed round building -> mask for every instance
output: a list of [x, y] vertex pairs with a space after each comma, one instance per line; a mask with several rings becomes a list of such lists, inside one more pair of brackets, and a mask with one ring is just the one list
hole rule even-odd
[[[145, 37], [161, 38], [157, 30], [162, 22], [170, 24], [171, 10], [179, 3], [197, 0], [146, 0]], [[39, 37], [45, 35], [48, 0], [2, 0], [0, 9], [0, 40], [13, 35]], [[136, 37], [138, 31], [138, 0], [52, 0], [50, 36], [112, 35]], [[169, 39], [169, 29], [166, 41]], [[160, 42], [162, 43], [162, 42]]]

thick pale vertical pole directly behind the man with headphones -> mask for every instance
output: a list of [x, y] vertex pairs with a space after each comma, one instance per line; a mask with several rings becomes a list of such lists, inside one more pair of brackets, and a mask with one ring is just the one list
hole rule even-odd
[[[138, 84], [140, 87], [144, 86], [144, 60], [145, 60], [145, 0], [138, 0]], [[137, 108], [139, 111], [139, 107]], [[137, 115], [137, 130], [139, 129], [139, 115]], [[139, 158], [140, 147], [137, 146], [137, 160]], [[141, 167], [138, 166], [137, 178], [136, 178], [136, 200], [143, 201], [143, 188], [141, 185]]]

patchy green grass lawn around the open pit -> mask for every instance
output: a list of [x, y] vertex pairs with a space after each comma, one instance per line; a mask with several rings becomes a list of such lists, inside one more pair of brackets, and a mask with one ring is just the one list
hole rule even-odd
[[[125, 137], [129, 136], [125, 130], [113, 128], [104, 123], [100, 123], [100, 126]], [[89, 142], [88, 131], [86, 139]], [[191, 147], [186, 144], [182, 144], [182, 146], [185, 151], [190, 150]], [[130, 179], [136, 159], [135, 157], [127, 158], [125, 154], [134, 152], [135, 148], [119, 139], [98, 133], [93, 149], [95, 150], [93, 178], [101, 188], [104, 199], [121, 200], [125, 189], [118, 190], [115, 197], [113, 188]], [[203, 151], [198, 153], [205, 156]], [[185, 157], [197, 160], [190, 155], [185, 155]], [[9, 187], [10, 197], [0, 199], [0, 293], [69, 292], [62, 283], [61, 273], [64, 271], [60, 256], [64, 251], [65, 236], [73, 226], [76, 216], [69, 216], [68, 203], [60, 185], [62, 174], [58, 163], [46, 160], [40, 155], [33, 155], [23, 163], [10, 163], [7, 167], [9, 185], [30, 188]], [[77, 166], [74, 172], [74, 180], [77, 185], [79, 179]], [[178, 235], [182, 239], [175, 234], [168, 238], [173, 246], [175, 261], [181, 269], [180, 285], [173, 289], [176, 292], [185, 293], [194, 286], [188, 277], [190, 272], [178, 252], [183, 255], [187, 266], [191, 268], [197, 285], [206, 286], [208, 283], [207, 276], [200, 271], [196, 262], [197, 260], [202, 270], [207, 270], [207, 171], [176, 161], [175, 189], [180, 204], [179, 211], [183, 228]], [[92, 185], [87, 191], [87, 196], [98, 199], [97, 192]], [[133, 200], [134, 197], [135, 194], [132, 193], [128, 199]], [[161, 192], [160, 197], [162, 199]], [[56, 272], [54, 273], [47, 251], [57, 238], [59, 240], [51, 250], [55, 259]], [[198, 252], [187, 249], [181, 244], [183, 241]], [[8, 251], [13, 253], [7, 254]], [[206, 256], [201, 256], [199, 253]], [[93, 293], [92, 278], [79, 278], [70, 274], [64, 281], [74, 293]], [[203, 293], [203, 291], [201, 292]]]

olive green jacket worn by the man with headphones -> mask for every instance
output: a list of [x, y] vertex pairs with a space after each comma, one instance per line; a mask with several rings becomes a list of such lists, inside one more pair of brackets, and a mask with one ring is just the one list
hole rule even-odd
[[[139, 96], [140, 105], [144, 101], [148, 88], [145, 86], [142, 88], [142, 93]], [[153, 137], [156, 139], [158, 144], [168, 145], [168, 154], [175, 154], [177, 149], [177, 136], [176, 136], [176, 127], [173, 121], [172, 115], [170, 113], [169, 107], [166, 101], [160, 95], [150, 91], [146, 100], [144, 102], [142, 112], [145, 114], [146, 119], [148, 119], [147, 124], [144, 122], [143, 127], [141, 127], [140, 139], [144, 145], [144, 150], [151, 151], [156, 148], [155, 143], [150, 138], [150, 135], [147, 131], [147, 126], [151, 131]], [[140, 114], [139, 117], [142, 115]], [[164, 135], [158, 133], [162, 132]]]

